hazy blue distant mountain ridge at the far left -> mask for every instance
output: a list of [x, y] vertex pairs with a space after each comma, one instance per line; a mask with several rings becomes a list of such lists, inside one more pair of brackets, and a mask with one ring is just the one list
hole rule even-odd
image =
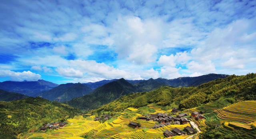
[[0, 82], [0, 89], [34, 96], [36, 93], [46, 91], [58, 86], [56, 83], [39, 79], [38, 81], [3, 81]]

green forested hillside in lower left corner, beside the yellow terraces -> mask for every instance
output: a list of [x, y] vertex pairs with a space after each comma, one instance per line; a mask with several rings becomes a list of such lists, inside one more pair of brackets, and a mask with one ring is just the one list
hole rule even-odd
[[58, 121], [80, 113], [69, 105], [40, 97], [0, 101], [0, 139], [15, 138], [37, 124]]

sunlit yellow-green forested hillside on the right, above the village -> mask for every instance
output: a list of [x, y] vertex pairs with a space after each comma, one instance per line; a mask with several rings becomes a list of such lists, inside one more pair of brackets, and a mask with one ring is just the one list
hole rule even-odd
[[222, 96], [236, 100], [256, 100], [256, 74], [242, 76], [231, 75], [216, 79], [198, 87], [160, 87], [154, 91], [122, 96], [96, 111], [122, 111], [127, 107], [142, 107], [150, 103], [161, 106], [178, 105], [180, 109], [196, 107], [202, 103], [214, 101]]

